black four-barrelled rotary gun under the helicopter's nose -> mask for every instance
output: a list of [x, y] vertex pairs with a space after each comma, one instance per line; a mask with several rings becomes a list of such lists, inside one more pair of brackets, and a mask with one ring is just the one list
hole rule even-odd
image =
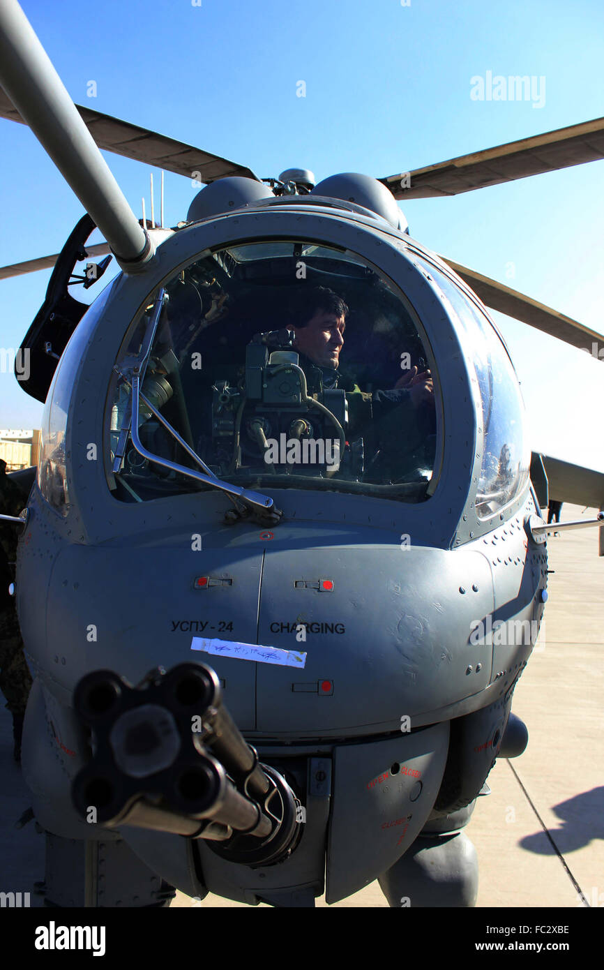
[[301, 803], [259, 763], [211, 667], [158, 667], [137, 687], [98, 670], [79, 681], [74, 706], [93, 751], [72, 786], [81, 816], [207, 839], [218, 855], [252, 866], [292, 852]]

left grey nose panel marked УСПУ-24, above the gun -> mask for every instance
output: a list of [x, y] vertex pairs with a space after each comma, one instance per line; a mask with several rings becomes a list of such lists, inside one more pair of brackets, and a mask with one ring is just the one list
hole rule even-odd
[[[149, 574], [149, 558], [160, 568]], [[78, 644], [60, 669], [72, 692], [90, 670], [115, 669], [138, 683], [152, 666], [200, 660], [226, 680], [229, 710], [241, 730], [256, 727], [256, 664], [193, 654], [193, 636], [257, 642], [262, 546], [191, 551], [189, 533], [159, 536], [159, 544], [64, 548], [52, 570], [48, 630]], [[102, 585], [98, 577], [104, 576]], [[197, 576], [232, 585], [194, 588]], [[67, 605], [69, 603], [69, 608]], [[96, 639], [87, 636], [96, 627]], [[230, 629], [225, 630], [225, 627]], [[270, 644], [267, 644], [270, 645]]]

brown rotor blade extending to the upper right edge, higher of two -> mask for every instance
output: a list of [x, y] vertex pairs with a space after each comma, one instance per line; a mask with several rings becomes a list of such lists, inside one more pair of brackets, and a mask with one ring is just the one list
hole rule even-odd
[[[379, 180], [395, 199], [429, 199], [554, 172], [600, 158], [604, 158], [604, 118], [594, 118]], [[401, 181], [408, 187], [401, 187]]]

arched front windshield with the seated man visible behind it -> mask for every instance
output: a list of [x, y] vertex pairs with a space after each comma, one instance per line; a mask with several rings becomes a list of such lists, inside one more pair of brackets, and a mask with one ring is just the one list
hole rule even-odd
[[[164, 289], [114, 367], [116, 498], [211, 487], [180, 469], [260, 490], [428, 498], [433, 362], [391, 279], [324, 243], [242, 242], [206, 252]], [[136, 368], [146, 455], [131, 436]]]

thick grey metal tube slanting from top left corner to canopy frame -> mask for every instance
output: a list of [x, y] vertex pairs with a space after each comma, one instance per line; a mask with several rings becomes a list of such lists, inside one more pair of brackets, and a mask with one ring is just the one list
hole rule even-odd
[[126, 272], [153, 255], [109, 166], [16, 0], [0, 3], [0, 82]]

